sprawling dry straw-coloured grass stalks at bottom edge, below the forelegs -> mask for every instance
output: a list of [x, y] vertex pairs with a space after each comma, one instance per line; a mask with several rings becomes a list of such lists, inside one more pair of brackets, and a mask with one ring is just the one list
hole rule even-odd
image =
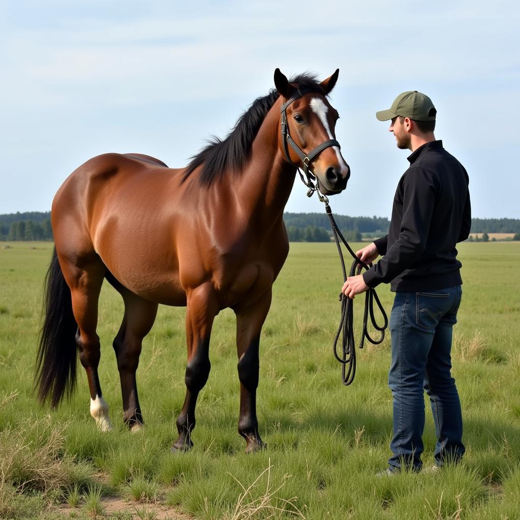
[[[269, 518], [278, 517], [280, 514], [295, 518], [303, 518], [305, 520], [305, 516], [294, 504], [297, 497], [287, 500], [276, 496], [278, 491], [280, 491], [280, 489], [285, 485], [287, 479], [290, 478], [290, 475], [285, 474], [282, 478], [281, 484], [278, 487], [273, 488], [271, 484], [271, 469], [271, 459], [269, 459], [269, 465], [267, 468], [258, 475], [256, 480], [254, 480], [248, 488], [245, 488], [239, 480], [231, 475], [235, 480], [237, 480], [237, 483], [240, 485], [243, 492], [240, 493], [238, 497], [235, 509], [230, 513], [226, 513], [223, 520], [249, 520], [250, 518], [260, 517], [263, 520], [269, 520]], [[261, 497], [254, 499], [251, 496], [252, 492], [257, 488], [264, 475], [267, 476], [265, 491]]]

